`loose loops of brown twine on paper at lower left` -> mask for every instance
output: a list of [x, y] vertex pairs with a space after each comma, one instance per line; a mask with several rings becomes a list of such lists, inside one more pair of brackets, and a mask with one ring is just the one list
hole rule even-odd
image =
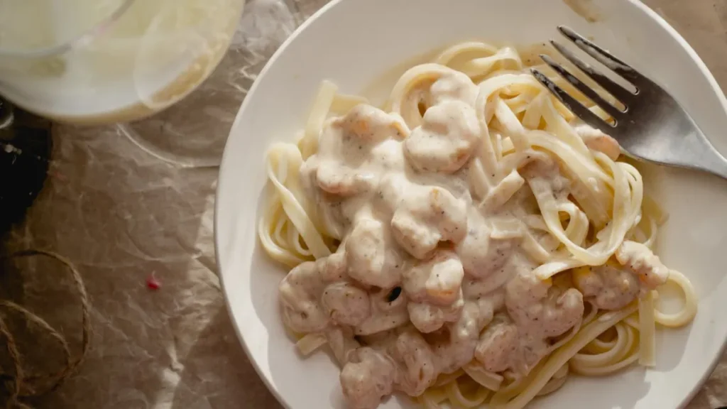
[[23, 357], [20, 354], [17, 344], [15, 343], [15, 337], [7, 326], [4, 318], [0, 315], [0, 336], [4, 338], [5, 348], [7, 353], [12, 360], [13, 370], [8, 372], [4, 368], [0, 368], [0, 380], [3, 381], [7, 392], [9, 393], [9, 400], [7, 401], [5, 408], [21, 408], [31, 409], [30, 406], [21, 402], [21, 400], [28, 397], [37, 397], [48, 392], [52, 392], [63, 384], [68, 378], [76, 374], [81, 363], [84, 362], [86, 354], [89, 349], [90, 338], [91, 338], [91, 325], [89, 322], [89, 298], [86, 293], [86, 286], [84, 285], [81, 274], [76, 270], [71, 261], [68, 261], [62, 255], [58, 255], [47, 250], [21, 250], [17, 253], [10, 255], [0, 256], [0, 261], [7, 261], [12, 258], [26, 258], [33, 257], [36, 255], [45, 256], [63, 263], [68, 271], [71, 271], [73, 282], [76, 284], [76, 288], [81, 295], [81, 322], [83, 325], [83, 338], [81, 340], [81, 353], [72, 358], [71, 349], [68, 346], [68, 342], [65, 341], [65, 337], [59, 333], [55, 328], [51, 327], [41, 317], [33, 314], [31, 311], [23, 308], [12, 301], [0, 300], [0, 308], [8, 309], [21, 316], [25, 317], [33, 325], [39, 327], [51, 338], [55, 339], [58, 344], [63, 348], [64, 353], [64, 365], [63, 368], [55, 373], [43, 373], [43, 374], [28, 374], [23, 370]]

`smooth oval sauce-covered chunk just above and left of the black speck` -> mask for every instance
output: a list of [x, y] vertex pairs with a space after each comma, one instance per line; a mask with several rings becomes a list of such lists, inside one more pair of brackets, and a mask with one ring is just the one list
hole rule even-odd
[[395, 287], [404, 263], [392, 247], [393, 239], [380, 221], [360, 218], [345, 243], [348, 275], [366, 286]]

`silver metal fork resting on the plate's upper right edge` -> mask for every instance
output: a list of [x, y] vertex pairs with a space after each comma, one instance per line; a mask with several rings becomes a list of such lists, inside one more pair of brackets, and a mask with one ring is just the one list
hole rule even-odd
[[691, 119], [691, 116], [668, 92], [570, 28], [561, 25], [558, 27], [558, 31], [636, 88], [635, 92], [627, 90], [596, 71], [590, 64], [580, 60], [569, 49], [551, 40], [550, 44], [553, 44], [553, 47], [563, 57], [566, 57], [580, 71], [590, 76], [603, 90], [613, 95], [625, 106], [623, 110], [616, 108], [601, 98], [598, 92], [556, 63], [553, 58], [548, 55], [540, 55], [542, 60], [550, 65], [558, 75], [611, 115], [614, 124], [593, 114], [542, 72], [531, 69], [537, 80], [545, 85], [558, 100], [561, 100], [573, 114], [591, 127], [611, 135], [619, 142], [622, 151], [635, 159], [702, 170], [727, 179], [727, 159], [719, 154], [696, 126], [694, 119]]

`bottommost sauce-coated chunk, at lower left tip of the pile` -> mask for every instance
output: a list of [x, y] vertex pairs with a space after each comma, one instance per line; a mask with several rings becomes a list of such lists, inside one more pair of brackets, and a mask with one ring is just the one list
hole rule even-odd
[[374, 349], [361, 347], [350, 354], [341, 370], [343, 396], [353, 409], [375, 409], [382, 397], [393, 392], [396, 368], [393, 362]]

